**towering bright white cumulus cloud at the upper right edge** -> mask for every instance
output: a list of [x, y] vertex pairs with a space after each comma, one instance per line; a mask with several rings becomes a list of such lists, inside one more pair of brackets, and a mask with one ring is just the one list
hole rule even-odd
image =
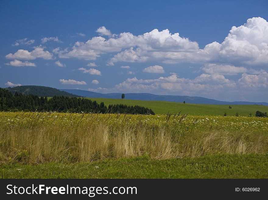
[[253, 17], [242, 26], [233, 26], [219, 44], [208, 44], [204, 51], [220, 61], [259, 65], [268, 63], [268, 22]]

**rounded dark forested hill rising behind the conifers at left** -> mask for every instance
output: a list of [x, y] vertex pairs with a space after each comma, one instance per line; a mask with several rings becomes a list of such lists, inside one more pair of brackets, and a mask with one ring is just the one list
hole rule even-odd
[[45, 86], [17, 86], [17, 87], [8, 87], [8, 89], [13, 95], [18, 92], [23, 95], [33, 94], [37, 96], [69, 96], [69, 97], [79, 97], [79, 95], [71, 94], [65, 91], [60, 91], [59, 89]]

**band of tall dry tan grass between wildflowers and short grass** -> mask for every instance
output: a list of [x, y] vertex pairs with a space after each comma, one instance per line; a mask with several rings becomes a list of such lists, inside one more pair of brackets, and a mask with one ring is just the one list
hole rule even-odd
[[[198, 157], [215, 153], [268, 153], [266, 133], [185, 129], [183, 123], [58, 126], [36, 123], [16, 128], [0, 125], [1, 162], [77, 162], [148, 154], [155, 159]], [[129, 119], [126, 119], [129, 120]], [[167, 119], [168, 120], [168, 119]], [[76, 119], [77, 121], [77, 119]], [[193, 125], [194, 126], [194, 122]]]

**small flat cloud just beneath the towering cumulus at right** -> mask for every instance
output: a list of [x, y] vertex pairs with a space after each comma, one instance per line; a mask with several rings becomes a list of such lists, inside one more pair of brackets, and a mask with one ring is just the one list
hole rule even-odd
[[224, 75], [236, 75], [238, 73], [245, 73], [247, 69], [245, 67], [235, 67], [232, 65], [216, 65], [206, 64], [202, 70], [207, 74], [224, 74]]

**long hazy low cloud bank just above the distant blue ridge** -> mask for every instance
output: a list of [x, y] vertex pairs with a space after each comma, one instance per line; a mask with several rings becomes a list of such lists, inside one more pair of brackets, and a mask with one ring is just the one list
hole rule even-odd
[[218, 91], [223, 88], [234, 88], [236, 83], [226, 79], [224, 75], [202, 74], [195, 79], [178, 78], [177, 75], [159, 77], [158, 79], [128, 78], [115, 85], [115, 90], [132, 92], [176, 91], [182, 93], [201, 93]]

